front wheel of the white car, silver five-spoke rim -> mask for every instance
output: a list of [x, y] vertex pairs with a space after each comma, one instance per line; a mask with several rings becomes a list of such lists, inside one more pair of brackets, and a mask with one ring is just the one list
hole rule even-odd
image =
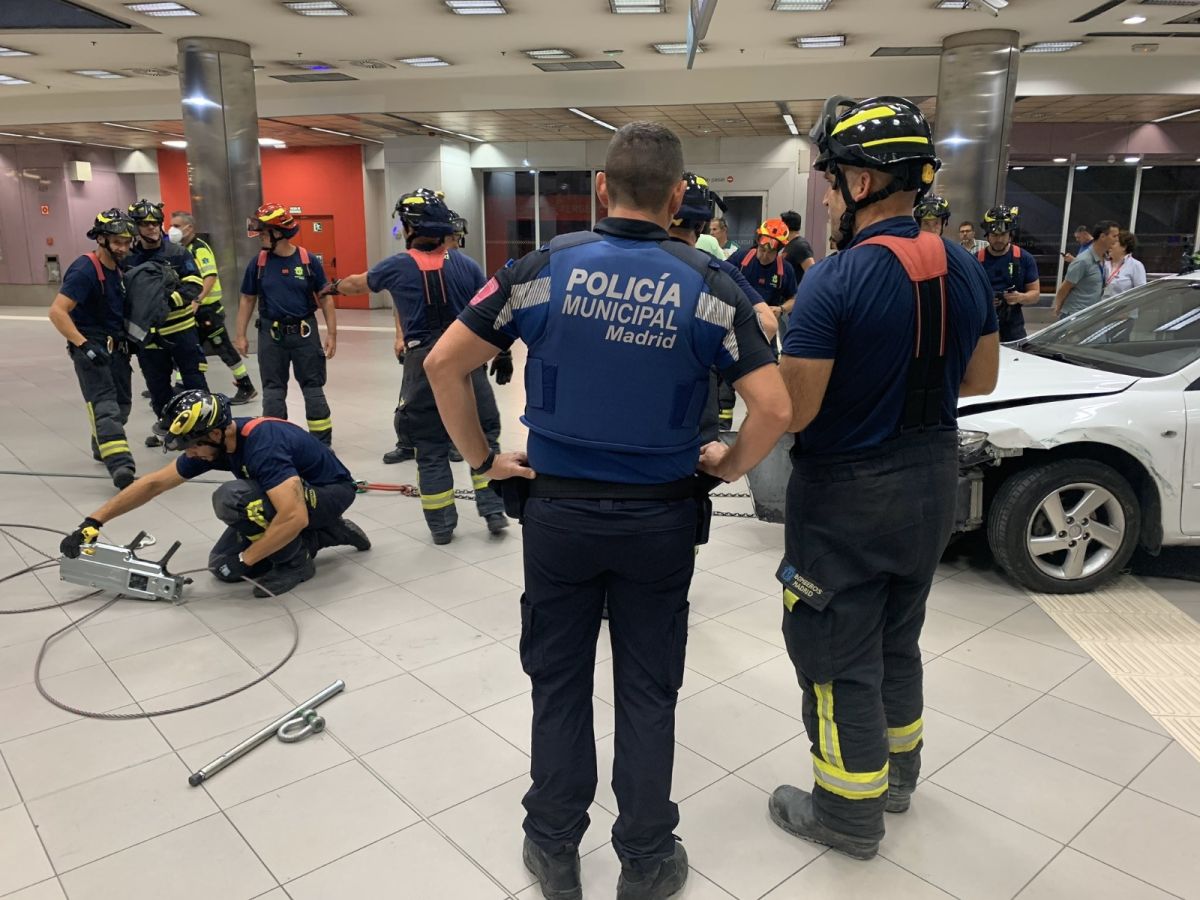
[[1043, 594], [1079, 594], [1116, 577], [1140, 534], [1141, 508], [1129, 481], [1094, 460], [1018, 472], [1000, 486], [988, 512], [996, 562]]

